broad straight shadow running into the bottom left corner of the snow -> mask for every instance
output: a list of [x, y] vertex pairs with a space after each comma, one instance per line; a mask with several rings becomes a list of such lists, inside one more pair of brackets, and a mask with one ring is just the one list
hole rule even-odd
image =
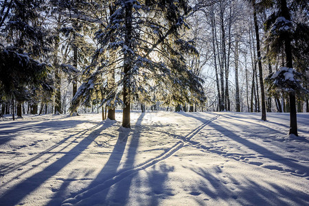
[[[105, 122], [104, 122], [105, 123]], [[110, 124], [102, 124], [100, 128], [97, 130], [93, 130], [90, 137], [93, 137], [95, 139], [95, 134], [100, 133], [102, 130], [106, 129]], [[69, 150], [63, 157], [52, 163], [51, 165], [47, 166], [43, 171], [38, 172], [27, 179], [25, 181], [14, 185], [12, 189], [8, 190], [7, 192], [3, 193], [2, 196], [0, 196], [0, 203], [4, 203], [4, 205], [16, 205], [21, 201], [27, 194], [30, 194], [31, 192], [34, 192], [40, 185], [42, 185], [47, 179], [51, 178], [59, 172], [62, 168], [65, 167], [65, 165], [69, 164], [73, 159], [76, 159], [78, 155], [82, 151], [84, 151], [93, 141], [93, 139], [84, 138], [78, 145], [76, 145], [74, 148]]]

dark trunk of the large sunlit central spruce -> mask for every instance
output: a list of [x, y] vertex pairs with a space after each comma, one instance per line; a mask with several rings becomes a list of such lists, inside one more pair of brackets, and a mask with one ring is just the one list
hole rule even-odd
[[[128, 3], [126, 5], [126, 21], [125, 21], [125, 26], [126, 26], [126, 34], [124, 36], [124, 44], [128, 46], [129, 48], [131, 47], [131, 41], [132, 41], [132, 32], [133, 32], [133, 27], [132, 27], [132, 8], [133, 6]], [[124, 54], [124, 109], [122, 113], [122, 126], [125, 128], [130, 128], [130, 74], [129, 71], [132, 67], [132, 58], [131, 54]]]

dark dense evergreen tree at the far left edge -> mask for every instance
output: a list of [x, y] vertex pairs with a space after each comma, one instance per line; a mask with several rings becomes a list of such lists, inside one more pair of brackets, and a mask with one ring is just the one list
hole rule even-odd
[[49, 51], [41, 16], [46, 5], [26, 0], [1, 3], [1, 36], [5, 37], [0, 47], [0, 89], [13, 104], [17, 101], [21, 116], [22, 102], [53, 91], [47, 65], [38, 62]]

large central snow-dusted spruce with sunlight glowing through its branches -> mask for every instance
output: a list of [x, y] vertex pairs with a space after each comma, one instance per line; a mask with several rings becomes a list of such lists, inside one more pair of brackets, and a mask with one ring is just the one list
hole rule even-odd
[[[73, 98], [71, 111], [92, 100], [108, 73], [115, 73], [115, 87], [102, 93], [102, 104], [124, 107], [122, 126], [130, 127], [133, 100], [154, 104], [205, 100], [202, 80], [188, 67], [184, 54], [198, 55], [185, 39], [190, 12], [187, 1], [113, 1], [115, 12], [96, 33], [100, 47], [84, 71], [87, 80]], [[96, 93], [96, 92], [95, 92]], [[151, 94], [151, 95], [150, 95]]]

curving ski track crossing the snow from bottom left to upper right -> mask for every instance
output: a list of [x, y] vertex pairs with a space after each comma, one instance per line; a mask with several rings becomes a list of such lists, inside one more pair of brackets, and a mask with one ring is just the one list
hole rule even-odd
[[122, 171], [117, 172], [117, 174], [115, 174], [115, 176], [111, 177], [110, 179], [107, 179], [106, 181], [104, 181], [104, 183], [102, 183], [100, 185], [96, 185], [95, 187], [92, 187], [89, 190], [86, 190], [86, 191], [76, 195], [73, 198], [67, 198], [67, 200], [62, 202], [62, 206], [74, 205], [74, 204], [78, 203], [79, 201], [84, 200], [85, 198], [90, 198], [91, 196], [95, 195], [96, 193], [102, 192], [102, 191], [108, 189], [109, 187], [111, 187], [112, 185], [114, 185], [115, 183], [122, 181], [122, 179], [125, 179], [127, 176], [133, 175], [136, 172], [139, 172], [140, 170], [145, 170], [146, 168], [150, 168], [151, 166], [159, 163], [160, 161], [168, 159], [168, 157], [171, 157], [172, 155], [174, 155], [174, 153], [177, 152], [178, 150], [180, 150], [181, 148], [183, 148], [183, 146], [190, 144], [190, 141], [194, 136], [196, 136], [201, 130], [203, 130], [203, 128], [205, 128], [205, 126], [207, 126], [209, 123], [218, 119], [218, 117], [220, 117], [220, 115], [216, 115], [216, 117], [213, 117], [213, 118], [209, 119], [207, 122], [201, 124], [201, 126], [198, 126], [192, 132], [187, 134], [185, 137], [181, 138], [183, 140], [174, 144], [174, 146], [172, 146], [168, 151], [163, 152], [158, 157], [155, 157], [153, 159], [149, 159], [148, 161], [141, 163], [134, 168], [130, 168], [130, 169], [126, 169], [126, 170], [122, 170]]

